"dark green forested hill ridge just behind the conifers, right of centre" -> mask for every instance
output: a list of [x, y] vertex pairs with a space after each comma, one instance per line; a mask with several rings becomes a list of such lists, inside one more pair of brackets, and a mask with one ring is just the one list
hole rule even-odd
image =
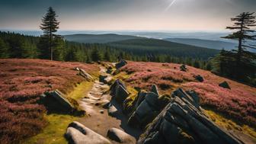
[[110, 46], [117, 47], [133, 53], [146, 54], [168, 54], [178, 57], [192, 57], [199, 59], [208, 59], [217, 53], [219, 50], [208, 49], [200, 46], [190, 46], [182, 43], [173, 43], [167, 40], [156, 39], [133, 39], [121, 40], [108, 43]]

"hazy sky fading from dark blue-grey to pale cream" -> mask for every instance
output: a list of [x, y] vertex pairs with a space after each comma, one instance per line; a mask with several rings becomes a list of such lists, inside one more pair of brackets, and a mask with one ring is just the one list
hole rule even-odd
[[52, 6], [61, 30], [225, 30], [256, 0], [0, 0], [0, 29], [38, 30]]

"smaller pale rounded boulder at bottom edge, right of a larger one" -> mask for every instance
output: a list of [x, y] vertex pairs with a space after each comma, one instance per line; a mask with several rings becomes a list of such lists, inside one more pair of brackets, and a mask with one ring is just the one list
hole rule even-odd
[[117, 128], [111, 128], [108, 130], [107, 137], [120, 143], [133, 143], [134, 141], [133, 136], [130, 136], [129, 134], [123, 132], [123, 130], [119, 130]]

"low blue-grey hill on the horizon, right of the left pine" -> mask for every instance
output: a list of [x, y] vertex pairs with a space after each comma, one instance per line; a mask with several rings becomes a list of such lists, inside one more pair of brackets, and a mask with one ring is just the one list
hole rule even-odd
[[72, 34], [62, 36], [66, 40], [78, 43], [110, 43], [120, 40], [140, 39], [142, 37], [118, 34]]

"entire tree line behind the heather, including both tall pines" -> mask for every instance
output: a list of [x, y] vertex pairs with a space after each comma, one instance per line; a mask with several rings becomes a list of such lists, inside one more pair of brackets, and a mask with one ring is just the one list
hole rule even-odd
[[32, 37], [0, 31], [0, 58], [37, 58], [76, 62], [117, 62], [118, 59], [143, 62], [184, 63], [200, 69], [211, 70], [217, 75], [256, 85], [256, 55], [247, 49], [256, 49], [247, 45], [247, 40], [256, 40], [254, 13], [242, 13], [232, 18], [236, 30], [226, 39], [238, 40], [237, 50], [222, 50], [213, 59], [195, 59], [193, 56], [172, 56], [166, 53], [141, 53], [138, 50], [118, 49], [116, 46], [100, 43], [75, 43], [63, 40], [56, 34], [59, 29], [56, 12], [49, 8], [42, 19], [41, 37]]

